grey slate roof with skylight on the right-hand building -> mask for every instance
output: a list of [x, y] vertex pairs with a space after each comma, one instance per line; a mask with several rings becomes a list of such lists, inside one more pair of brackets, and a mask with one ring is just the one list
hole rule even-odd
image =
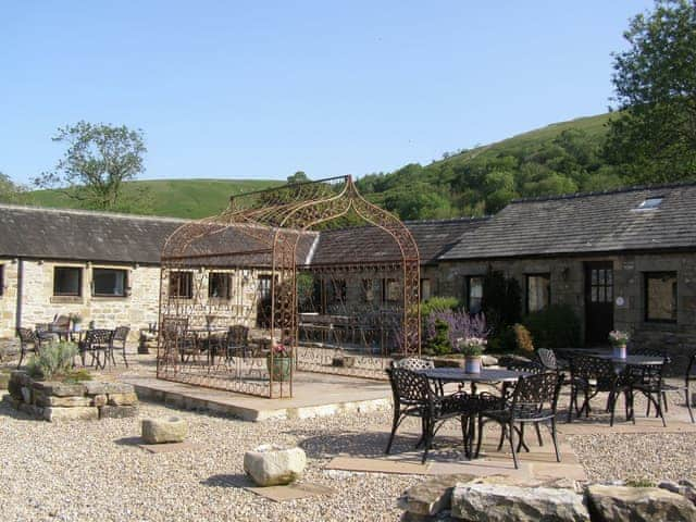
[[[648, 198], [655, 210], [636, 210]], [[696, 248], [696, 184], [518, 200], [442, 260]]]

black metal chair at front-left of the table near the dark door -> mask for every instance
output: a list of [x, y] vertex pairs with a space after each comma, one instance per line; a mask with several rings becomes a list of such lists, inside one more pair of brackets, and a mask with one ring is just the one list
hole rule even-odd
[[[570, 360], [570, 405], [568, 407], [568, 422], [572, 421], [573, 407], [580, 418], [585, 412], [589, 417], [589, 401], [600, 391], [609, 394], [606, 410], [611, 413], [609, 425], [613, 426], [614, 410], [619, 395], [624, 394], [626, 420], [632, 415], [630, 408], [631, 382], [625, 371], [617, 373], [610, 359], [576, 355]], [[579, 396], [583, 395], [582, 406]]]

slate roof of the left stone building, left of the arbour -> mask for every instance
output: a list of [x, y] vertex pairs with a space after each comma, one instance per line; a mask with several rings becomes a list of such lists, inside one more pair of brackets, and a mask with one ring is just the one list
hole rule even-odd
[[159, 264], [184, 220], [0, 204], [0, 256]]

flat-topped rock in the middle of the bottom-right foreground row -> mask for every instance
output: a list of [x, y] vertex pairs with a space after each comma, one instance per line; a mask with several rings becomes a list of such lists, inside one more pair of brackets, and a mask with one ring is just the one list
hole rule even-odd
[[502, 484], [460, 484], [452, 517], [480, 522], [589, 521], [583, 497], [569, 489]]

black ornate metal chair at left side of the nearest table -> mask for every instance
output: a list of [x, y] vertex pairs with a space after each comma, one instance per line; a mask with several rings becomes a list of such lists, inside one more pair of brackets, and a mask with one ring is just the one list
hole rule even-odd
[[394, 436], [401, 422], [408, 417], [421, 419], [422, 435], [417, 447], [423, 445], [423, 460], [433, 444], [435, 434], [443, 423], [450, 419], [461, 422], [462, 438], [467, 455], [471, 453], [469, 423], [478, 411], [478, 401], [462, 391], [448, 395], [436, 395], [425, 375], [405, 368], [387, 369], [391, 393], [394, 394], [394, 420], [386, 453], [391, 450]]

